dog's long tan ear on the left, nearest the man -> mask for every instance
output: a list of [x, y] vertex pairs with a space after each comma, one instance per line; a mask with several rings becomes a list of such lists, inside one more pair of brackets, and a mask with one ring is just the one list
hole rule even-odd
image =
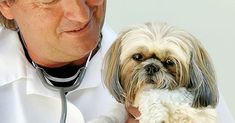
[[114, 98], [124, 103], [124, 90], [120, 82], [120, 54], [122, 35], [119, 36], [107, 51], [104, 62], [102, 78], [106, 88]]

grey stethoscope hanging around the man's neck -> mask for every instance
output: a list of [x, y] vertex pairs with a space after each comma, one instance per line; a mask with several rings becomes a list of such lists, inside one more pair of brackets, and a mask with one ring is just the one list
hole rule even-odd
[[[20, 39], [22, 41], [22, 45], [23, 45], [23, 48], [26, 50], [25, 52], [27, 52], [27, 49], [26, 49], [26, 44], [25, 44], [25, 41], [22, 37], [22, 34], [20, 33], [19, 30], [17, 30], [19, 36], [20, 36]], [[102, 34], [101, 34], [101, 39], [102, 39]], [[98, 47], [100, 46], [100, 43], [98, 44]], [[79, 68], [78, 70], [78, 77], [76, 78], [75, 82], [73, 83], [73, 85], [69, 86], [69, 87], [58, 87], [58, 86], [54, 86], [50, 83], [50, 81], [47, 79], [46, 76], [48, 76], [48, 74], [46, 73], [46, 71], [41, 68], [40, 66], [38, 66], [35, 62], [31, 61], [33, 67], [36, 69], [36, 73], [37, 75], [39, 76], [42, 84], [50, 89], [50, 90], [53, 90], [53, 91], [56, 91], [56, 92], [59, 92], [60, 93], [60, 97], [61, 97], [61, 116], [60, 116], [60, 123], [65, 123], [66, 122], [66, 118], [67, 118], [67, 100], [66, 100], [66, 93], [67, 92], [71, 92], [75, 89], [77, 89], [81, 83], [82, 83], [82, 80], [85, 76], [85, 73], [86, 73], [86, 70], [87, 70], [87, 67], [88, 67], [88, 64], [90, 62], [90, 59], [91, 59], [91, 56], [92, 56], [92, 52], [91, 51], [89, 53], [89, 56], [87, 58], [87, 61], [86, 61], [86, 64], [85, 66]]]

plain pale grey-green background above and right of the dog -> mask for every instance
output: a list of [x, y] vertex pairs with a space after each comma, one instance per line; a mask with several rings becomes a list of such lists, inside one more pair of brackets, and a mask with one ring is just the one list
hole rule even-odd
[[214, 62], [220, 92], [234, 118], [235, 0], [107, 0], [106, 23], [115, 32], [147, 21], [166, 21], [187, 30], [203, 43]]

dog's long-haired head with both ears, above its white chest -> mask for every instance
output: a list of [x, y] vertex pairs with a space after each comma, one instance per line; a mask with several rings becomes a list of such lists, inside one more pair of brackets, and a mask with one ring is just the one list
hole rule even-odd
[[205, 49], [189, 33], [164, 23], [146, 23], [124, 31], [109, 49], [104, 81], [113, 96], [133, 104], [136, 94], [149, 88], [187, 88], [193, 106], [217, 103], [212, 63]]

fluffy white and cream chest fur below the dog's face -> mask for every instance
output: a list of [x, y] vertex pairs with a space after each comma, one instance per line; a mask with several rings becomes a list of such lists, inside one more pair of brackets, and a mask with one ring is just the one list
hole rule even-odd
[[185, 88], [151, 89], [136, 99], [141, 112], [140, 123], [215, 123], [216, 112], [211, 107], [192, 108], [193, 95]]

